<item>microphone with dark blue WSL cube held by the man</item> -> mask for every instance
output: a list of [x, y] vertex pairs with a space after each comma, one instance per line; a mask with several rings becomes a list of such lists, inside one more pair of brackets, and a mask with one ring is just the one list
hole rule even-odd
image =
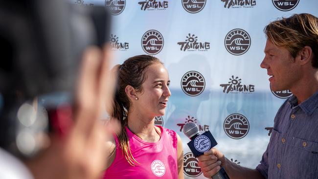
[[[218, 144], [210, 131], [199, 134], [199, 127], [193, 122], [184, 124], [182, 132], [190, 138], [188, 146], [195, 157], [203, 155], [204, 152]], [[220, 171], [212, 176], [212, 179], [229, 179], [229, 177], [225, 169], [221, 167]]]

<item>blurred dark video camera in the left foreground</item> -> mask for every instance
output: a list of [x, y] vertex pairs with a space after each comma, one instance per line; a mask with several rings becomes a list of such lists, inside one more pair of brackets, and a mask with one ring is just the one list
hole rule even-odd
[[110, 23], [103, 6], [1, 2], [0, 147], [17, 156], [36, 153], [38, 134], [51, 124], [46, 111], [72, 103], [82, 53], [109, 40]]

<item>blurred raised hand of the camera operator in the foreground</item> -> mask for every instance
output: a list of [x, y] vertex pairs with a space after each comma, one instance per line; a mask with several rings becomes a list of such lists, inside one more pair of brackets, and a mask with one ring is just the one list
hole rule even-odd
[[74, 123], [63, 136], [53, 134], [50, 146], [27, 161], [35, 179], [100, 178], [109, 152], [105, 142], [115, 123], [101, 125], [103, 111], [112, 108], [115, 78], [110, 52], [88, 48], [83, 56], [73, 111]]

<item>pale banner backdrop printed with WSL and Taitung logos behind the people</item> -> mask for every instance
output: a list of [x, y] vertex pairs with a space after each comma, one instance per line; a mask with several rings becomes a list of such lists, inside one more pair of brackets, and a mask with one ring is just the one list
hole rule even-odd
[[171, 80], [166, 114], [156, 124], [176, 131], [184, 148], [185, 177], [203, 179], [182, 133], [195, 122], [216, 148], [255, 168], [270, 139], [274, 116], [291, 92], [272, 91], [260, 67], [269, 22], [295, 13], [318, 16], [317, 0], [75, 0], [112, 9], [116, 63], [158, 57]]

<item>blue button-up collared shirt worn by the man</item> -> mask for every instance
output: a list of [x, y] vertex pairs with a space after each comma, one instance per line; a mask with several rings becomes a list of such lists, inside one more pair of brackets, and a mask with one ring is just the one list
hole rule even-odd
[[318, 179], [318, 92], [278, 110], [270, 142], [256, 169], [268, 179]]

